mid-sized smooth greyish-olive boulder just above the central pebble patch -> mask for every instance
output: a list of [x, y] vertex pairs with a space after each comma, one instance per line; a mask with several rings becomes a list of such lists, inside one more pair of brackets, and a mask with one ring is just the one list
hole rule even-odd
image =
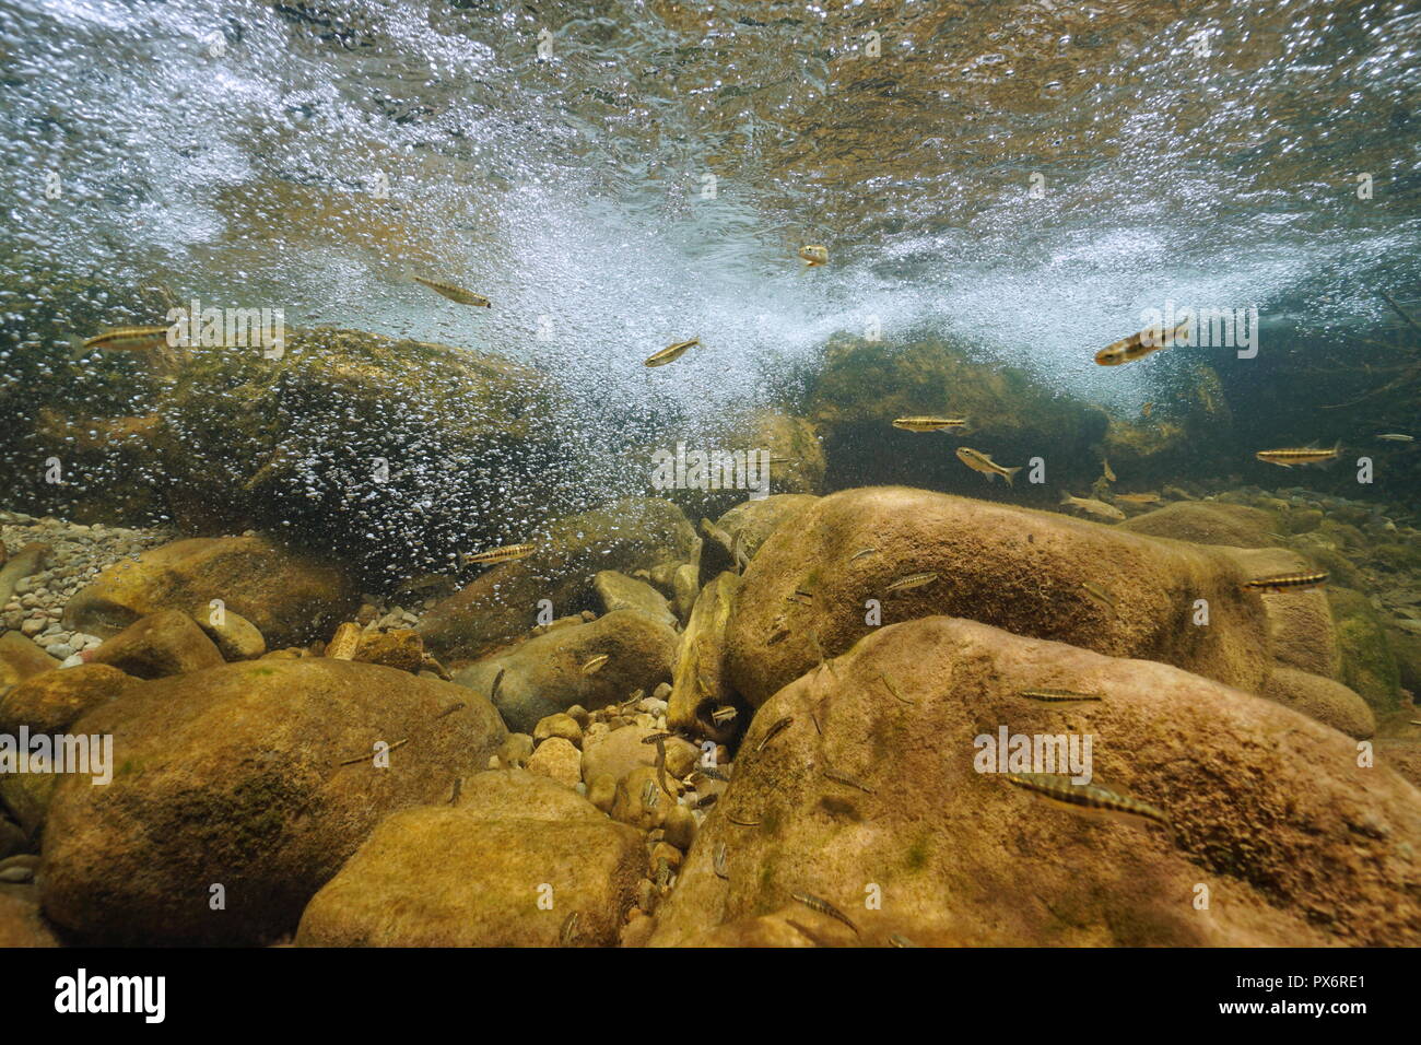
[[671, 681], [675, 650], [676, 633], [666, 624], [617, 610], [470, 664], [455, 681], [490, 694], [510, 729], [533, 732], [547, 715], [578, 704], [593, 711]]

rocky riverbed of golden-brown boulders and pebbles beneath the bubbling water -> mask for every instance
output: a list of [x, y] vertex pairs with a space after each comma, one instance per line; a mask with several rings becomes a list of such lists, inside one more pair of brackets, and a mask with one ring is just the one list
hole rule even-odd
[[[622, 502], [385, 596], [6, 513], [0, 735], [114, 763], [0, 775], [0, 944], [1421, 943], [1411, 519], [1098, 493]], [[973, 772], [999, 724], [1090, 734], [1168, 829]]]

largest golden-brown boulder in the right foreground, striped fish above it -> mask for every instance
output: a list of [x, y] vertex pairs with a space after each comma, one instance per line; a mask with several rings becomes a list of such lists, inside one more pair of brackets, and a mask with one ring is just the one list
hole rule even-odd
[[[1106, 700], [1020, 695], [1042, 687]], [[1074, 739], [1077, 755], [1091, 736], [1091, 782], [1155, 806], [1169, 827], [1012, 786], [990, 746], [1003, 731], [1059, 736], [1060, 752]], [[701, 943], [718, 926], [793, 911], [811, 937], [845, 945], [891, 934], [921, 945], [1415, 945], [1418, 876], [1421, 792], [1358, 765], [1336, 729], [1167, 664], [929, 617], [874, 631], [836, 672], [799, 678], [759, 709], [651, 943]]]

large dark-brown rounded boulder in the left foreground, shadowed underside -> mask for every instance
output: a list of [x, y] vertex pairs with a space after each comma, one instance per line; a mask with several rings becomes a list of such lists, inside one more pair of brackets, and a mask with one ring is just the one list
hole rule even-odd
[[112, 735], [112, 782], [60, 782], [41, 894], [55, 924], [102, 944], [293, 930], [387, 813], [448, 800], [506, 735], [477, 694], [327, 658], [145, 682], [74, 729]]

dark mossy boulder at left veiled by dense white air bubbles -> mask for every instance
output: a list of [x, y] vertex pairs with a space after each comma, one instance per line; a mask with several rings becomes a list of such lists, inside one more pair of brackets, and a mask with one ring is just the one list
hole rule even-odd
[[539, 515], [556, 492], [547, 385], [490, 355], [291, 330], [280, 358], [193, 348], [175, 377], [158, 442], [189, 530], [254, 525], [375, 584], [506, 543], [489, 526]]

